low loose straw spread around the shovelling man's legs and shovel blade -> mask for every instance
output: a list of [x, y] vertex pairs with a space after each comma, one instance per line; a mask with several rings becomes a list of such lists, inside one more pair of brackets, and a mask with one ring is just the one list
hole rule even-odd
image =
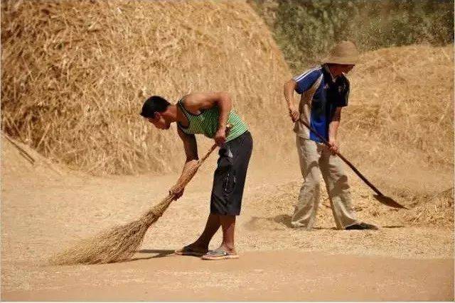
[[[353, 185], [350, 191], [353, 209], [358, 219], [378, 226], [432, 226], [451, 230], [454, 228], [453, 188], [437, 194], [415, 194], [406, 190], [402, 191], [400, 196], [394, 193], [393, 196], [400, 202], [414, 206], [410, 210], [402, 211], [379, 204], [371, 190], [358, 180], [351, 179], [350, 184]], [[257, 209], [258, 218], [262, 218], [260, 228], [290, 225], [290, 216], [299, 199], [300, 187], [301, 182], [289, 182], [277, 186], [272, 196], [252, 199], [250, 207]], [[319, 194], [321, 202], [316, 215], [316, 226], [336, 226], [325, 187], [321, 186]]]

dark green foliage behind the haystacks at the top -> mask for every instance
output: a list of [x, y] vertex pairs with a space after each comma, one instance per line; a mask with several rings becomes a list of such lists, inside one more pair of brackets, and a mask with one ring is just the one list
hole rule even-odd
[[360, 50], [454, 42], [454, 1], [250, 0], [292, 70], [314, 65], [334, 43]]

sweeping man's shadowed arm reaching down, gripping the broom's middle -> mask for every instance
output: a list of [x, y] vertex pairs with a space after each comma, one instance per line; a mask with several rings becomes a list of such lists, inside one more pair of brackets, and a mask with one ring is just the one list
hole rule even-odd
[[186, 160], [183, 165], [181, 176], [178, 178], [176, 185], [169, 190], [170, 194], [175, 194], [175, 199], [182, 197], [183, 190], [185, 189], [185, 187], [179, 187], [177, 184], [180, 184], [183, 177], [188, 175], [188, 171], [191, 170], [191, 167], [194, 167], [198, 163], [198, 144], [196, 143], [196, 136], [183, 133], [180, 128], [177, 128], [177, 133], [183, 141]]

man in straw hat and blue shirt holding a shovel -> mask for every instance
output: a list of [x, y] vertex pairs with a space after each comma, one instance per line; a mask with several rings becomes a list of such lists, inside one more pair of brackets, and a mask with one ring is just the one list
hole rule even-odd
[[[296, 133], [297, 153], [304, 184], [291, 219], [291, 226], [314, 226], [319, 206], [320, 172], [331, 202], [331, 209], [338, 229], [378, 229], [372, 224], [355, 219], [350, 206], [348, 177], [343, 172], [343, 162], [334, 155], [338, 150], [336, 136], [341, 120], [341, 110], [348, 105], [349, 81], [346, 74], [358, 61], [354, 43], [338, 43], [323, 64], [306, 70], [284, 83], [284, 98], [289, 106]], [[294, 107], [294, 91], [301, 94], [299, 109]], [[331, 147], [309, 131], [304, 123], [326, 138]]]

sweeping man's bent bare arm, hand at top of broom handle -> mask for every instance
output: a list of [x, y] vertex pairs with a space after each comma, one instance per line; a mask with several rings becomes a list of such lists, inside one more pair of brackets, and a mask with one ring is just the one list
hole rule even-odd
[[228, 116], [232, 109], [232, 100], [228, 93], [225, 92], [210, 92], [189, 94], [185, 98], [186, 109], [194, 114], [198, 114], [201, 109], [210, 109], [213, 106], [218, 106], [220, 116], [218, 118], [218, 131], [215, 133], [215, 143], [223, 145], [226, 141], [226, 125]]

